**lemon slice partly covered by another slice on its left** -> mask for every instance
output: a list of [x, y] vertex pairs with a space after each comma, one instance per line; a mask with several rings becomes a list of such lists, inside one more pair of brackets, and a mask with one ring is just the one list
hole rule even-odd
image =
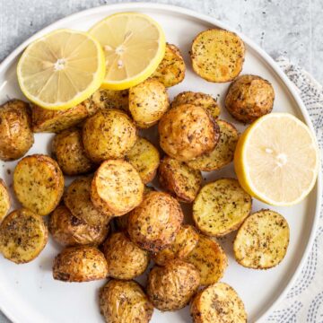
[[124, 90], [153, 74], [165, 53], [159, 24], [143, 13], [116, 13], [98, 22], [90, 33], [99, 40], [107, 73], [102, 87]]

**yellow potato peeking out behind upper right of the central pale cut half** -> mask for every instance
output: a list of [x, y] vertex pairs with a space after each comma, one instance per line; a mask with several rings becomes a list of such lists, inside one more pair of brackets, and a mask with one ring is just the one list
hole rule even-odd
[[138, 138], [126, 155], [126, 161], [135, 167], [144, 184], [152, 181], [155, 177], [160, 159], [157, 148], [144, 138]]

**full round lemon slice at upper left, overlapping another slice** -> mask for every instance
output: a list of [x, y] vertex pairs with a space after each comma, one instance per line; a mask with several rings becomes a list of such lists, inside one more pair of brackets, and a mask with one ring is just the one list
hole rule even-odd
[[58, 30], [35, 40], [17, 66], [23, 94], [46, 109], [74, 107], [100, 87], [104, 75], [102, 48], [82, 31]]

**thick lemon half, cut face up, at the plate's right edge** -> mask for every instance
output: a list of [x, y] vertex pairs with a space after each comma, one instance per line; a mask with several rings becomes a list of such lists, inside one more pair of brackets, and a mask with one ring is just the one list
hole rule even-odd
[[314, 187], [319, 149], [310, 128], [288, 113], [258, 118], [234, 155], [240, 185], [269, 205], [299, 203]]

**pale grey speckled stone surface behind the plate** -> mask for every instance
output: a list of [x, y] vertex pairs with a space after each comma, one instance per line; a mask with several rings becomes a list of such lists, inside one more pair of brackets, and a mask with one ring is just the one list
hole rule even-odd
[[[23, 40], [70, 13], [110, 0], [0, 0], [0, 62]], [[323, 83], [323, 0], [160, 0], [209, 14], [284, 55]], [[0, 282], [1, 284], [1, 282]], [[0, 313], [0, 323], [8, 320]], [[36, 322], [35, 322], [36, 323]]]

